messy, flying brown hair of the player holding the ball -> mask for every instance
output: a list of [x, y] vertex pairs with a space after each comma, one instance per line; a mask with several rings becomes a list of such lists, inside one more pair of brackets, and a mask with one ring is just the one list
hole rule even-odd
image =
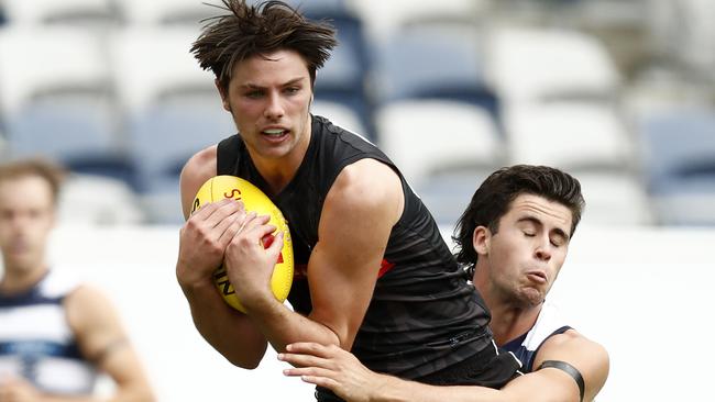
[[213, 71], [219, 86], [228, 90], [233, 67], [254, 55], [278, 49], [297, 52], [306, 62], [310, 85], [338, 45], [336, 30], [326, 22], [307, 20], [282, 1], [249, 5], [245, 0], [221, 0], [213, 5], [229, 13], [204, 20], [204, 32], [190, 52], [205, 70]]

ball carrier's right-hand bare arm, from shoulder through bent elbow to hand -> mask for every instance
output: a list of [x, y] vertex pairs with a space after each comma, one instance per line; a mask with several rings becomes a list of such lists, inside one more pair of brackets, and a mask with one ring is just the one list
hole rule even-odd
[[[251, 284], [246, 279], [251, 275], [249, 267], [233, 267], [250, 260], [250, 255], [240, 255], [238, 250], [235, 256], [227, 254], [227, 261], [235, 261], [227, 263], [227, 269], [241, 270], [235, 277], [243, 279], [232, 280], [237, 294], [241, 294], [249, 316], [276, 350], [299, 340], [350, 349], [370, 304], [392, 227], [403, 208], [402, 182], [388, 166], [362, 159], [340, 172], [326, 197], [319, 241], [308, 261], [312, 311], [307, 317], [276, 302], [266, 286]], [[256, 238], [249, 238], [239, 248], [255, 243]]]

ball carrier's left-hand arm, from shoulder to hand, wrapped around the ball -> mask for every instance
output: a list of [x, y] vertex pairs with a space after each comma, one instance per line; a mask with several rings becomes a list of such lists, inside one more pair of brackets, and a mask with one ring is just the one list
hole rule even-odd
[[216, 176], [216, 146], [199, 152], [182, 171], [182, 206], [187, 222], [180, 231], [176, 277], [201, 336], [233, 365], [253, 369], [261, 362], [267, 342], [244, 314], [223, 301], [212, 279], [245, 213], [240, 203], [222, 200], [190, 214], [197, 191]]

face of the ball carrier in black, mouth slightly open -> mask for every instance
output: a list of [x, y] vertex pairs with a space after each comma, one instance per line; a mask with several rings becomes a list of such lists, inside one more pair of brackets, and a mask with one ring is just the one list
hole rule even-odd
[[312, 88], [298, 53], [277, 51], [238, 63], [221, 97], [254, 161], [301, 160], [309, 143]]

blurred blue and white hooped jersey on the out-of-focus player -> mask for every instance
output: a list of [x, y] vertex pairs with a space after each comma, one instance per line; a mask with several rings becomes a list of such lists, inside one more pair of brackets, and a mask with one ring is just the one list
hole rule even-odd
[[67, 322], [64, 298], [78, 281], [50, 272], [22, 294], [0, 292], [0, 377], [56, 394], [90, 394], [97, 379]]

